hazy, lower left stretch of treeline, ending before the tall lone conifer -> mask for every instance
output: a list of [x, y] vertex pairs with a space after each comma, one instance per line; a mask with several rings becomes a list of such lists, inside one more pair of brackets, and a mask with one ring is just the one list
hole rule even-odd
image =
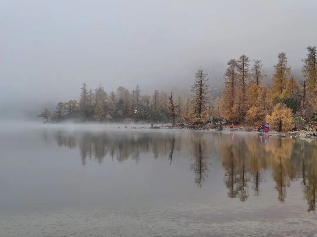
[[[184, 115], [190, 110], [189, 102], [178, 96], [173, 100], [169, 94], [155, 90], [151, 95], [141, 94], [139, 85], [132, 91], [123, 86], [112, 88], [107, 93], [104, 86], [88, 89], [82, 84], [80, 98], [77, 100], [60, 101], [54, 112], [47, 108], [39, 115], [47, 121], [80, 118], [81, 121], [151, 121], [151, 122], [184, 122]], [[172, 104], [171, 104], [172, 102]]]

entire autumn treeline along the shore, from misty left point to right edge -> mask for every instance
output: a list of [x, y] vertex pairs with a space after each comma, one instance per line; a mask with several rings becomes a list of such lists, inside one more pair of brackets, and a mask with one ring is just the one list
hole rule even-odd
[[[302, 59], [302, 78], [291, 74], [285, 52], [277, 56], [272, 77], [273, 87], [263, 83], [262, 61], [241, 55], [230, 59], [224, 73], [225, 86], [221, 97], [214, 100], [209, 91], [208, 74], [199, 68], [191, 86], [191, 95], [172, 96], [155, 90], [151, 95], [141, 94], [137, 85], [132, 91], [120, 86], [107, 93], [103, 85], [92, 90], [83, 83], [79, 102], [59, 102], [56, 111], [45, 109], [39, 117], [59, 121], [80, 117], [95, 121], [151, 121], [204, 123], [212, 118], [232, 123], [256, 124], [269, 122], [282, 131], [292, 126], [317, 123], [317, 51], [307, 47], [307, 57]], [[176, 98], [176, 99], [175, 99]]]

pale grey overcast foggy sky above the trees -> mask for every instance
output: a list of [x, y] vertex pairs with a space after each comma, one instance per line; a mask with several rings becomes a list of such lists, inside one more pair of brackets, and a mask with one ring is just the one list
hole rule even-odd
[[189, 89], [199, 66], [222, 77], [243, 53], [272, 68], [284, 51], [298, 69], [317, 44], [316, 10], [291, 0], [2, 0], [0, 100], [78, 99], [83, 82]]

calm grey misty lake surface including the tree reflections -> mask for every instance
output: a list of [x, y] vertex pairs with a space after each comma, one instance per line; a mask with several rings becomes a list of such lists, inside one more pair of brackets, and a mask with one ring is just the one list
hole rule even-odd
[[316, 236], [316, 141], [113, 127], [1, 125], [0, 236]]

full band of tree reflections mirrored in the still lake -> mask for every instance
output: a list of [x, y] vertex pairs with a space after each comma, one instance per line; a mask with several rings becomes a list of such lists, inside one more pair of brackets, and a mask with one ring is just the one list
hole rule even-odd
[[67, 132], [54, 131], [43, 134], [47, 142], [54, 136], [59, 146], [80, 149], [82, 165], [87, 159], [101, 163], [108, 155], [123, 162], [133, 159], [140, 162], [140, 155], [152, 153], [155, 159], [166, 157], [172, 167], [175, 151], [191, 154], [191, 169], [195, 183], [202, 187], [207, 182], [209, 166], [221, 160], [224, 184], [228, 197], [248, 200], [249, 188], [253, 196], [261, 195], [264, 172], [272, 170], [278, 200], [287, 198], [291, 182], [300, 179], [308, 212], [315, 211], [317, 194], [316, 142], [279, 136], [253, 134], [226, 134], [209, 132]]

